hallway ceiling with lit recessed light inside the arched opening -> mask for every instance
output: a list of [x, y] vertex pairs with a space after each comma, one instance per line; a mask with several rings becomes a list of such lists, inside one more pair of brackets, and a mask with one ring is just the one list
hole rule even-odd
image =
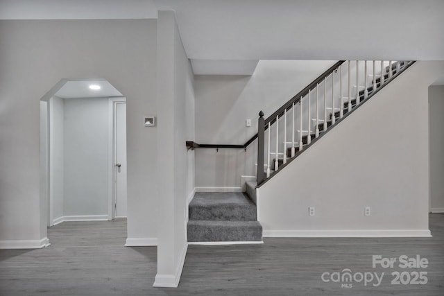
[[[89, 89], [89, 85], [100, 85], [101, 89]], [[107, 80], [69, 80], [55, 96], [59, 98], [101, 98], [123, 96]]]

